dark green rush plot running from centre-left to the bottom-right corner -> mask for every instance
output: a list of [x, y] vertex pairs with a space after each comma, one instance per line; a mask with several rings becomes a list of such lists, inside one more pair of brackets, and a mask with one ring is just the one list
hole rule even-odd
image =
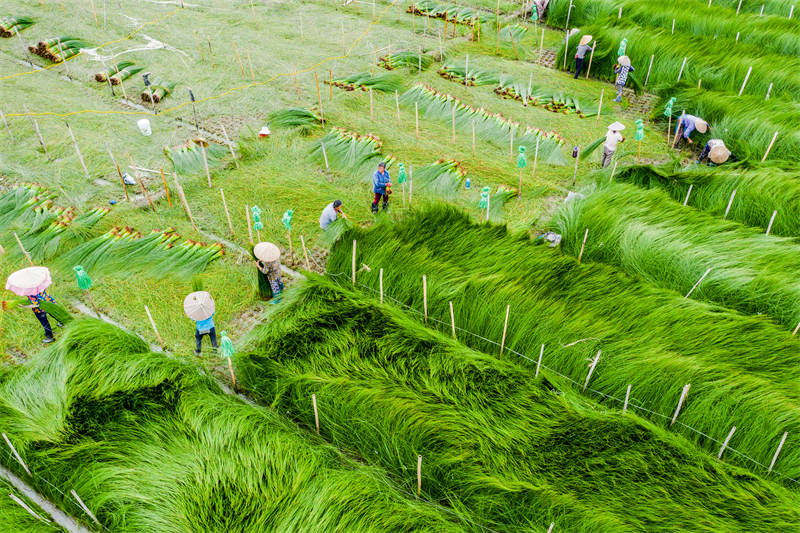
[[[500, 531], [793, 527], [797, 496], [314, 276], [236, 358], [263, 403]], [[697, 517], [702, 516], [701, 522]], [[768, 521], [767, 524], [764, 521]]]

